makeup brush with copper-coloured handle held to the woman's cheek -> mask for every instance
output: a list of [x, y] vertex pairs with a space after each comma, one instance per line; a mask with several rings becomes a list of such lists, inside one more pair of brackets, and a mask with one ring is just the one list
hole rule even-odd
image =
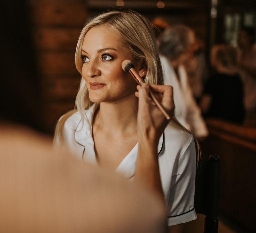
[[[124, 71], [131, 74], [131, 76], [135, 79], [135, 81], [141, 86], [144, 82], [144, 80], [139, 76], [137, 71], [134, 69], [134, 65], [132, 61], [130, 60], [124, 60], [122, 62], [122, 68]], [[163, 106], [159, 103], [158, 99], [155, 97], [154, 93], [149, 89], [149, 96], [151, 99], [155, 102], [156, 106], [161, 110], [161, 112], [164, 114], [167, 120], [169, 120], [171, 117], [166, 113]]]

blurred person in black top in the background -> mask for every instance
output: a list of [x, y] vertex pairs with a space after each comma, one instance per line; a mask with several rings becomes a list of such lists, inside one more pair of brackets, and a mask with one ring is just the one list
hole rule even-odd
[[215, 45], [211, 65], [216, 73], [205, 85], [200, 102], [205, 117], [243, 123], [243, 84], [237, 69], [237, 52], [228, 45]]

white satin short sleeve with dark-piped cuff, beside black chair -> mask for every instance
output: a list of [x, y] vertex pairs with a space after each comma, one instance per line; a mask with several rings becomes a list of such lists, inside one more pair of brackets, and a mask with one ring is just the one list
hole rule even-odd
[[195, 220], [194, 208], [196, 149], [194, 138], [181, 152], [174, 164], [170, 193], [167, 202], [167, 223], [169, 226]]

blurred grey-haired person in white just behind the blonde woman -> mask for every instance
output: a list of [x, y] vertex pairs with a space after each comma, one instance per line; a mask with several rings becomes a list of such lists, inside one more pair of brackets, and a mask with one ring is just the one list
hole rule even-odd
[[162, 34], [160, 59], [164, 83], [173, 86], [175, 116], [184, 127], [203, 140], [208, 135], [207, 126], [193, 97], [183, 65], [192, 58], [195, 49], [194, 32], [185, 25], [174, 25]]

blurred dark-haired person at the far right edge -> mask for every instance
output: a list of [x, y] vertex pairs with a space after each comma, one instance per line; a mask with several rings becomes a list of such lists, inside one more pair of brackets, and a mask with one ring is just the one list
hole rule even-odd
[[242, 28], [238, 33], [238, 67], [244, 84], [246, 121], [256, 117], [256, 48], [255, 29]]

